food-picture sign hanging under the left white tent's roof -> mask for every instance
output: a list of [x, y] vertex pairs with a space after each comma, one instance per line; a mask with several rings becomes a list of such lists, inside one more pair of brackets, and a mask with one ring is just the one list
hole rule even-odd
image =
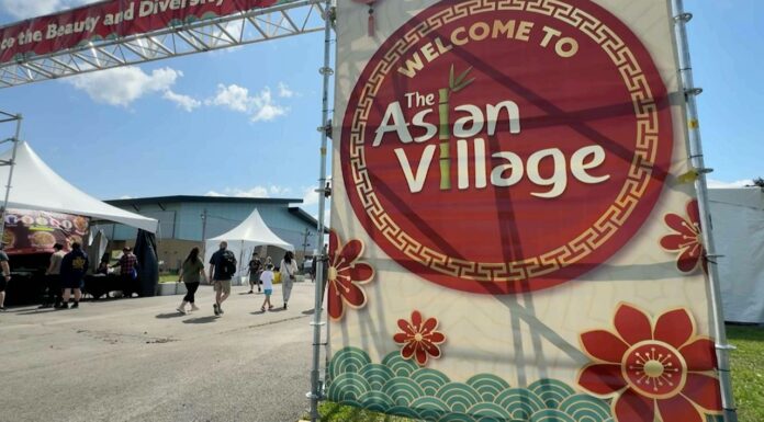
[[90, 229], [90, 218], [70, 214], [30, 209], [8, 209], [2, 243], [9, 255], [52, 253], [54, 244], [65, 248], [82, 244]]

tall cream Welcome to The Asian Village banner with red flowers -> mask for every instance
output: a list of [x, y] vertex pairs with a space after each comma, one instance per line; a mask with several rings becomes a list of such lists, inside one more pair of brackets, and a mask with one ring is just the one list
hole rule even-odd
[[665, 0], [338, 2], [330, 400], [721, 418], [672, 24]]

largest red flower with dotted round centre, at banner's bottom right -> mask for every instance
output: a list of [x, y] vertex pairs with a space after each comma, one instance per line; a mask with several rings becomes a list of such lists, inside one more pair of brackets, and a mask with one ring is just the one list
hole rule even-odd
[[596, 362], [578, 374], [578, 384], [613, 400], [616, 422], [704, 422], [703, 413], [719, 414], [721, 397], [715, 376], [714, 342], [695, 335], [685, 309], [674, 309], [653, 322], [641, 310], [621, 304], [616, 332], [581, 334]]

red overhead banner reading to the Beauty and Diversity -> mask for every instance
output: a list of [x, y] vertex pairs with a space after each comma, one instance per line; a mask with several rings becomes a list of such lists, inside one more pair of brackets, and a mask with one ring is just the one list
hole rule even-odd
[[0, 64], [292, 0], [111, 0], [0, 27]]

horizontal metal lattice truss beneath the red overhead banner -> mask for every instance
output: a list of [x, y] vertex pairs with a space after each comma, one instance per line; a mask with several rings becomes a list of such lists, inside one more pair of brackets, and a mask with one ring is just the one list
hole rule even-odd
[[324, 30], [325, 13], [326, 7], [321, 0], [297, 0], [146, 34], [89, 43], [1, 64], [0, 89], [319, 32]]

